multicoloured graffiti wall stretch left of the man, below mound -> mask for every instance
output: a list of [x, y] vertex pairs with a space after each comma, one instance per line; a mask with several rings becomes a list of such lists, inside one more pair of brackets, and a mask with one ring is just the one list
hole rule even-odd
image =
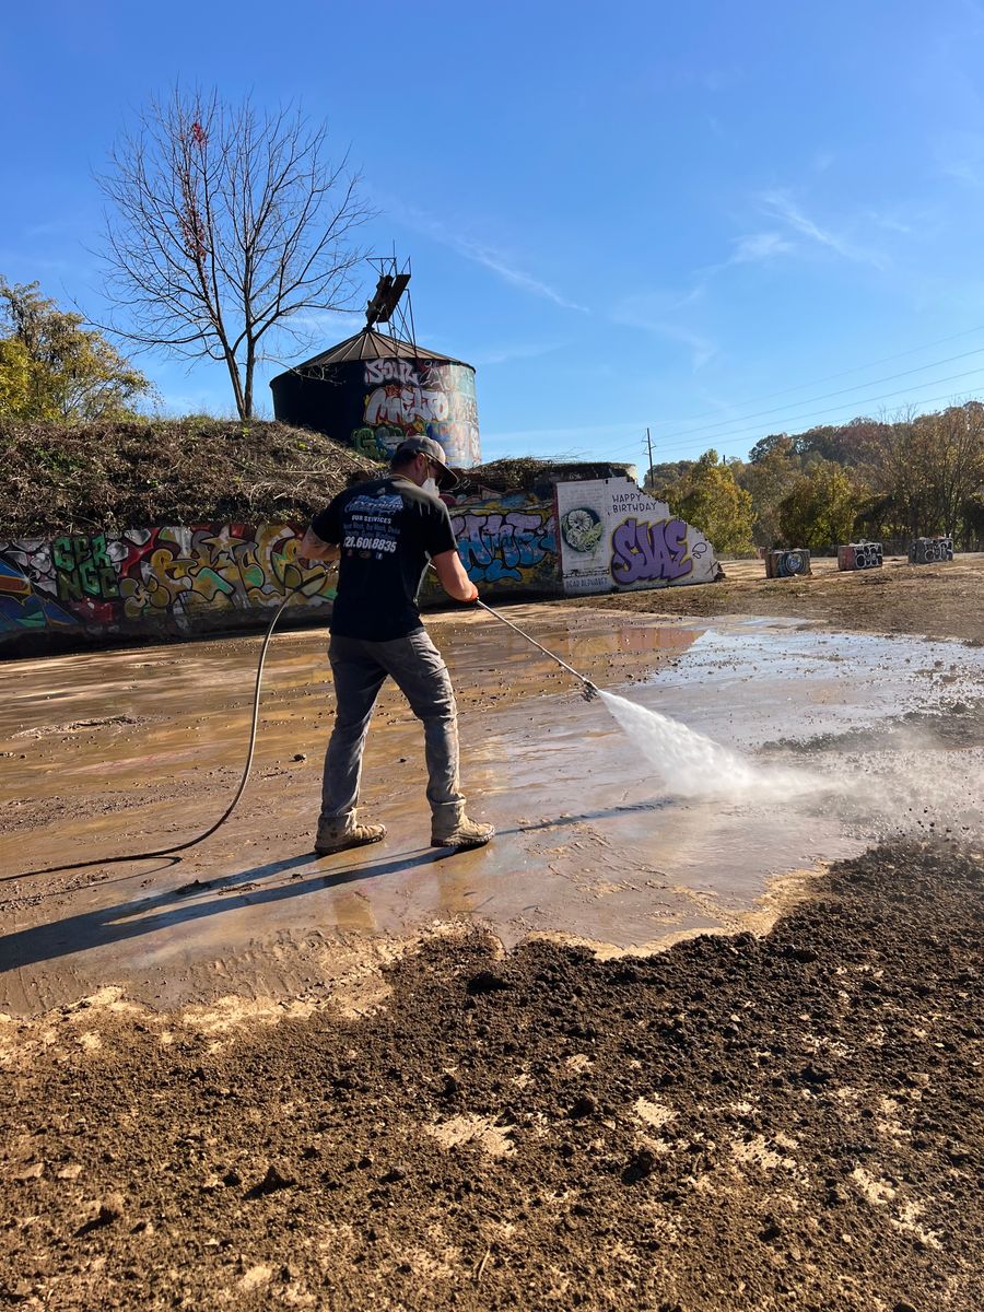
[[130, 529], [0, 542], [0, 649], [45, 632], [71, 640], [182, 636], [255, 626], [287, 589], [289, 610], [335, 596], [297, 559], [302, 531], [282, 523]]

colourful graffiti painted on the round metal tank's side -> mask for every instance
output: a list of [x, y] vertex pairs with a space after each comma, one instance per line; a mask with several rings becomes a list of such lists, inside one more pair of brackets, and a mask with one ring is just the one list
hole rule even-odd
[[365, 384], [362, 424], [352, 433], [361, 455], [388, 461], [404, 438], [433, 437], [451, 464], [478, 459], [475, 375], [466, 365], [367, 359]]

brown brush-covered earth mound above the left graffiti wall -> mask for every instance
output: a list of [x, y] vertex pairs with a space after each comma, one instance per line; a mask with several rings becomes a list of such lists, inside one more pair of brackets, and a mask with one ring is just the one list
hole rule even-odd
[[307, 521], [378, 471], [286, 424], [0, 421], [0, 538], [156, 523]]

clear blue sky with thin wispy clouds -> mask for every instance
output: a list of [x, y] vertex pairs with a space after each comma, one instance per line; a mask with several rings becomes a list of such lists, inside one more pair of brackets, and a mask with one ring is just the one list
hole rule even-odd
[[[981, 68], [970, 0], [17, 5], [0, 273], [98, 318], [133, 112], [177, 77], [299, 98], [412, 260], [419, 340], [476, 366], [484, 458], [642, 464], [647, 424], [657, 459], [745, 455], [984, 394]], [[169, 411], [231, 409], [220, 366], [140, 362]]]

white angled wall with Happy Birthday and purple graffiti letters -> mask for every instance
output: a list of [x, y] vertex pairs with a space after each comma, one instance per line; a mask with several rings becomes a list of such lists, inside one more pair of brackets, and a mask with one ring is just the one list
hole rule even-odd
[[556, 487], [564, 592], [613, 592], [712, 583], [714, 547], [631, 479]]

